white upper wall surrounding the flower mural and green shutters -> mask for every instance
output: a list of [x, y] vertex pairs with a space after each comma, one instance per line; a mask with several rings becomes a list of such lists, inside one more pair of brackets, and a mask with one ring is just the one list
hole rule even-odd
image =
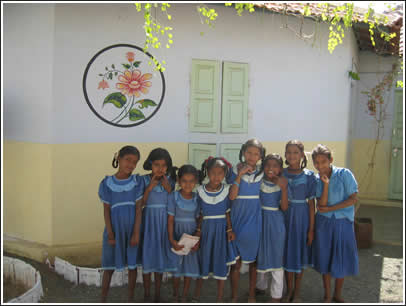
[[[117, 128], [89, 109], [83, 73], [106, 46], [143, 46], [142, 13], [133, 4], [6, 4], [5, 138], [52, 143], [240, 142], [255, 136], [263, 141], [346, 142], [354, 39], [345, 39], [329, 54], [326, 26], [317, 29], [312, 47], [313, 41], [304, 42], [282, 28], [286, 18], [281, 15], [260, 10], [238, 17], [231, 8], [213, 7], [219, 13], [214, 29], [200, 23], [195, 4], [172, 4], [172, 21], [157, 13], [162, 23], [174, 28], [173, 47], [150, 50], [167, 62], [163, 105], [145, 124]], [[297, 27], [298, 19], [288, 20]], [[314, 24], [306, 21], [304, 30], [315, 32]], [[21, 41], [22, 36], [28, 41]], [[25, 44], [33, 47], [28, 51]], [[188, 132], [193, 58], [249, 64], [248, 134]], [[16, 68], [21, 60], [24, 68]]]

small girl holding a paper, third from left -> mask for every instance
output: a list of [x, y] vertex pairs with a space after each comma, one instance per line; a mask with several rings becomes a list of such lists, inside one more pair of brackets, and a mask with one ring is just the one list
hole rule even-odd
[[[168, 234], [169, 242], [176, 251], [182, 250], [179, 239], [186, 233], [195, 236], [197, 218], [200, 216], [200, 208], [197, 204], [197, 194], [193, 192], [199, 172], [192, 165], [184, 165], [178, 171], [178, 183], [181, 189], [174, 191], [169, 196], [168, 203]], [[180, 277], [184, 278], [183, 295], [181, 302], [186, 303], [191, 278], [200, 277], [200, 265], [198, 245], [188, 255], [179, 255], [177, 271], [173, 273], [173, 296], [174, 301], [179, 302]]]

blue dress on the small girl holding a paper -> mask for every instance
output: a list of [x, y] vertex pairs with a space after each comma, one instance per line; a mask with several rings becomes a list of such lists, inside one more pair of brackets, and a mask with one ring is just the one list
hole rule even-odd
[[[193, 235], [196, 232], [196, 218], [200, 215], [200, 208], [197, 203], [197, 194], [193, 193], [192, 199], [185, 199], [179, 191], [169, 195], [168, 215], [175, 217], [174, 239], [179, 241], [182, 235]], [[173, 273], [175, 277], [200, 277], [200, 265], [198, 252], [188, 255], [178, 255], [177, 271]]]

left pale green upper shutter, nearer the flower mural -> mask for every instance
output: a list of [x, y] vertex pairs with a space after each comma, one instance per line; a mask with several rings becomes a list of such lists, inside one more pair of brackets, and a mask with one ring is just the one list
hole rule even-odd
[[191, 132], [216, 133], [219, 121], [220, 62], [192, 60], [190, 84]]

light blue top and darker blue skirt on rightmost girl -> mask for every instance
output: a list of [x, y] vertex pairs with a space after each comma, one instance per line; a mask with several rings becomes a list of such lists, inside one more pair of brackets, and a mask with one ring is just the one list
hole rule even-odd
[[[317, 176], [316, 197], [320, 198], [324, 183]], [[336, 205], [358, 192], [352, 172], [332, 166], [328, 186], [328, 206]], [[354, 205], [330, 211], [317, 212], [314, 240], [315, 269], [334, 278], [358, 274], [358, 250], [354, 233]]]

